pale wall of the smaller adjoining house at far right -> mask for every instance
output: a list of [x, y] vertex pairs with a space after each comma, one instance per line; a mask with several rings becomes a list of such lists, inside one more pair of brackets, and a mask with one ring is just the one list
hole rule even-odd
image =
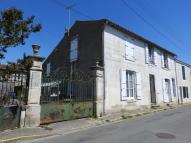
[[[186, 80], [183, 80], [182, 77], [182, 66], [185, 67], [185, 75], [186, 75]], [[188, 103], [191, 102], [191, 71], [190, 71], [190, 67], [180, 63], [180, 62], [176, 62], [176, 73], [177, 73], [177, 85], [178, 85], [178, 95], [180, 98], [180, 102], [181, 102], [181, 97], [180, 97], [180, 86], [186, 86], [188, 87], [188, 95], [189, 95], [189, 99], [183, 99], [183, 103]]]

